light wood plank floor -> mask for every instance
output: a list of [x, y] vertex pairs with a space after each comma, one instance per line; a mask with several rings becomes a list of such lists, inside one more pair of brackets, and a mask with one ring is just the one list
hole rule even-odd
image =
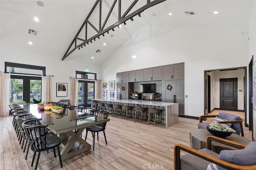
[[[218, 114], [216, 110], [211, 114]], [[227, 112], [227, 111], [226, 111]], [[243, 112], [232, 112], [244, 117]], [[163, 125], [148, 125], [110, 117], [106, 126], [106, 145], [103, 133], [95, 141], [95, 150], [84, 152], [63, 161], [63, 168], [53, 152], [42, 152], [38, 169], [43, 170], [136, 170], [136, 169], [173, 169], [174, 145], [182, 143], [190, 146], [189, 132], [197, 129], [198, 120], [179, 117], [175, 125], [164, 128]], [[208, 119], [211, 122], [212, 120]], [[244, 127], [244, 134], [252, 139], [251, 131]], [[85, 133], [83, 133], [83, 137]], [[88, 134], [87, 142], [92, 144], [92, 135]], [[31, 167], [32, 151], [28, 159], [20, 149], [12, 117], [0, 117], [0, 170], [28, 170]]]

